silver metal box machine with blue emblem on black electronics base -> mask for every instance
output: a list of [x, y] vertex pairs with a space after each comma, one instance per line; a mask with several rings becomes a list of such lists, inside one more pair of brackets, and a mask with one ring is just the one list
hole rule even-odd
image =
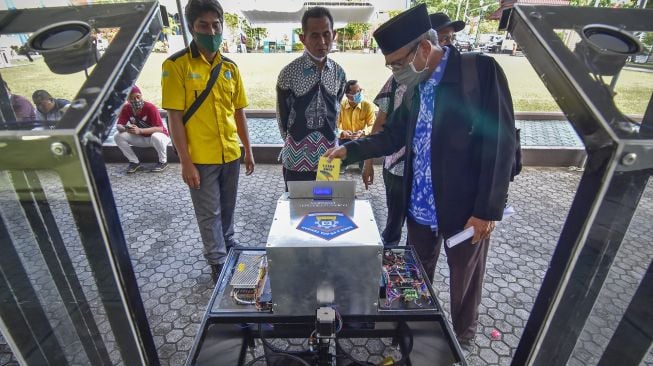
[[265, 248], [230, 251], [187, 365], [466, 364], [417, 256], [384, 249], [355, 182], [288, 189]]

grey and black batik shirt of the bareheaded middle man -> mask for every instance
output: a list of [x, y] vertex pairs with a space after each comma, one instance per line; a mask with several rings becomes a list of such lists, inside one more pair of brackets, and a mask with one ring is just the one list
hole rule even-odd
[[327, 58], [320, 70], [307, 54], [281, 70], [277, 80], [277, 122], [284, 140], [286, 169], [315, 171], [320, 156], [336, 144], [336, 121], [347, 78]]

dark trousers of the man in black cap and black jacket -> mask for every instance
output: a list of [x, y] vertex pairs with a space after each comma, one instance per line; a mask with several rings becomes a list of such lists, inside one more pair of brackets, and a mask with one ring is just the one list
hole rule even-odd
[[[420, 225], [410, 217], [407, 220], [408, 244], [417, 252], [424, 270], [433, 282], [435, 265], [440, 256], [443, 235]], [[449, 265], [449, 294], [451, 297], [451, 321], [456, 336], [471, 338], [478, 325], [478, 306], [481, 304], [485, 262], [490, 239], [472, 244], [466, 240], [453, 248], [444, 247]]]

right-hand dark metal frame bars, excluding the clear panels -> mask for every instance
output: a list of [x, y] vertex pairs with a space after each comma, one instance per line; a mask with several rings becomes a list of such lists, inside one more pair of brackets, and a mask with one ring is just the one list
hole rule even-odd
[[[587, 150], [584, 174], [513, 365], [560, 365], [570, 359], [653, 169], [653, 96], [641, 124], [628, 120], [609, 87], [592, 78], [555, 31], [599, 24], [650, 32], [651, 19], [653, 11], [639, 9], [517, 5], [512, 11], [509, 31]], [[617, 359], [637, 364], [646, 356], [653, 336], [652, 296], [648, 266], [602, 350], [601, 364]]]

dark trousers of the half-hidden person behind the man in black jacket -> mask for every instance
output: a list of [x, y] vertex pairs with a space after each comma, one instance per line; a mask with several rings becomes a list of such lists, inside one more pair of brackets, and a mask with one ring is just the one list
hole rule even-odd
[[401, 240], [401, 229], [406, 221], [403, 180], [403, 177], [383, 168], [385, 203], [388, 206], [388, 218], [385, 221], [385, 229], [381, 233], [383, 245], [398, 245]]

